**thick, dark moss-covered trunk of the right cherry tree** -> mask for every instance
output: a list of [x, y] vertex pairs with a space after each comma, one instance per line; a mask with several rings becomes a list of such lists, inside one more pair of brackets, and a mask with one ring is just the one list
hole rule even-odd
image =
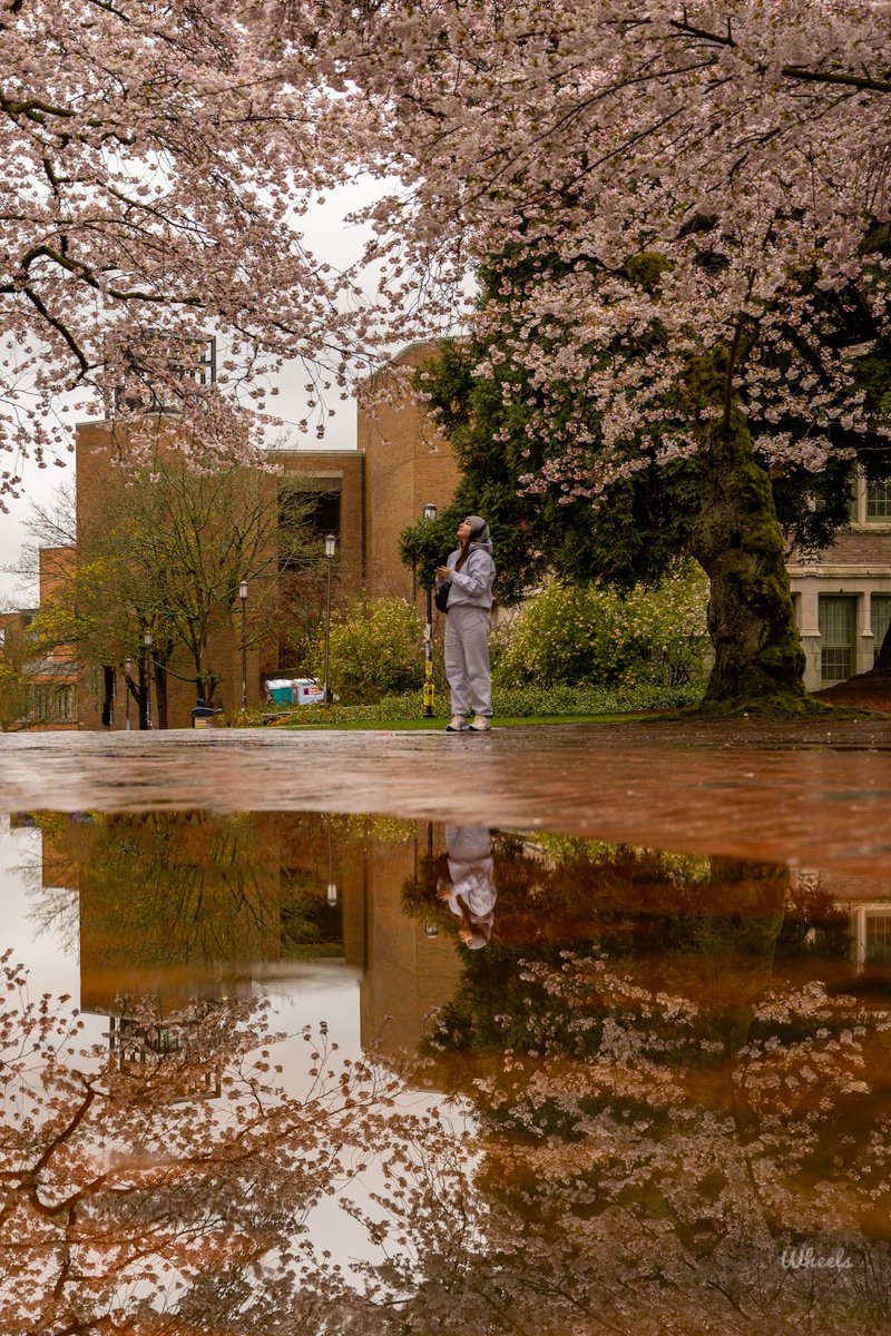
[[[713, 383], [713, 382], [712, 382]], [[707, 705], [804, 697], [801, 649], [771, 484], [736, 406], [708, 429], [692, 553], [711, 580]]]

